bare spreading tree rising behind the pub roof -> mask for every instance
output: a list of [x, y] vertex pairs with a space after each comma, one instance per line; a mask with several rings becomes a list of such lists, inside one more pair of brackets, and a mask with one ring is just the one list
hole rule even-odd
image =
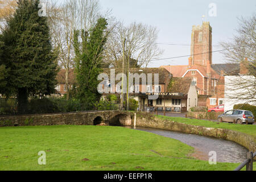
[[134, 61], [132, 67], [147, 67], [152, 59], [163, 53], [155, 44], [157, 35], [158, 31], [152, 26], [136, 22], [125, 26], [117, 22], [106, 43], [105, 61], [119, 67], [125, 53], [126, 61]]

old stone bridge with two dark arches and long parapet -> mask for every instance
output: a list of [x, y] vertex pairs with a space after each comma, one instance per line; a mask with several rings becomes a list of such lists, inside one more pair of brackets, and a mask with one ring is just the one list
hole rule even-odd
[[76, 113], [0, 116], [1, 126], [110, 125], [131, 126], [134, 114], [127, 111], [84, 111]]

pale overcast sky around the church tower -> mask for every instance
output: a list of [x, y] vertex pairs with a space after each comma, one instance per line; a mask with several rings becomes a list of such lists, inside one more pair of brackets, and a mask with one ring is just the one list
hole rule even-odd
[[[141, 22], [159, 30], [159, 43], [191, 44], [193, 25], [202, 24], [202, 15], [213, 28], [213, 45], [232, 38], [238, 27], [237, 17], [256, 13], [255, 0], [100, 0], [102, 10], [112, 10], [113, 16], [125, 24]], [[208, 15], [210, 3], [217, 6], [217, 16]], [[161, 45], [164, 53], [159, 58], [190, 55], [190, 46]], [[213, 47], [213, 51], [222, 47]], [[213, 64], [224, 63], [221, 53], [213, 53]], [[149, 67], [187, 65], [188, 57], [153, 61]]]

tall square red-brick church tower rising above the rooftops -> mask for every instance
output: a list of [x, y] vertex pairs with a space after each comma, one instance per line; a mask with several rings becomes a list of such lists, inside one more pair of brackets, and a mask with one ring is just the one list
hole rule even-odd
[[206, 67], [209, 62], [212, 65], [212, 27], [209, 22], [203, 22], [202, 26], [192, 27], [191, 55], [193, 56], [189, 59], [190, 67], [192, 65]]

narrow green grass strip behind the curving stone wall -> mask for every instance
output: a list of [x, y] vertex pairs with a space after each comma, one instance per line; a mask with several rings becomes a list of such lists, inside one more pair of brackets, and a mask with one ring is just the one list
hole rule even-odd
[[218, 129], [229, 129], [234, 131], [240, 131], [241, 133], [252, 135], [256, 139], [256, 125], [237, 125], [234, 123], [218, 123], [218, 122], [206, 121], [201, 119], [175, 118], [175, 117], [167, 117], [163, 115], [158, 115], [158, 118], [168, 119], [170, 121], [175, 121], [175, 122], [185, 123], [185, 124], [195, 125], [195, 126], [205, 126], [205, 127], [212, 127], [212, 128], [218, 128]]

